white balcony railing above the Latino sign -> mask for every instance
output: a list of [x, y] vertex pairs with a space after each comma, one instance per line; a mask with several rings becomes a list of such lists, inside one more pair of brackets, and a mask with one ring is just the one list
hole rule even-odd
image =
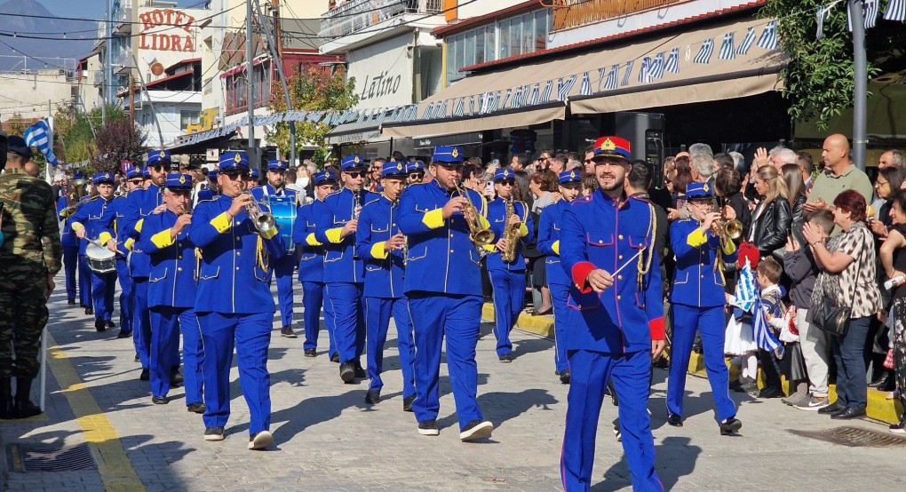
[[439, 14], [442, 0], [348, 0], [321, 16], [321, 37], [358, 33], [402, 14]]

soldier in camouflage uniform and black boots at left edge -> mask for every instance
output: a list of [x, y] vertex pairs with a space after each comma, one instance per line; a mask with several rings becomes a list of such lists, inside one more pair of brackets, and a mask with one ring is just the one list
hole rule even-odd
[[51, 186], [24, 171], [31, 157], [22, 137], [9, 137], [6, 169], [0, 176], [5, 236], [0, 246], [0, 419], [41, 413], [29, 395], [39, 369], [46, 303], [63, 257]]

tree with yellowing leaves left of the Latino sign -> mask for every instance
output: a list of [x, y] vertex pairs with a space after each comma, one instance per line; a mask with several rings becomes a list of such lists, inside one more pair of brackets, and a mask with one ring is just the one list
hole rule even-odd
[[[346, 80], [346, 72], [342, 68], [331, 73], [330, 69], [318, 65], [306, 65], [303, 72], [295, 71], [286, 80], [289, 86], [290, 101], [294, 111], [344, 111], [359, 102], [355, 94], [355, 79]], [[272, 93], [275, 94], [268, 108], [277, 113], [286, 111], [286, 101], [283, 96], [283, 85], [277, 81]], [[309, 123], [297, 121], [295, 123], [295, 152], [300, 154], [304, 145], [314, 145], [313, 160], [321, 165], [330, 151], [325, 137], [333, 126], [324, 123]], [[289, 123], [280, 122], [267, 131], [267, 140], [274, 142], [280, 152], [289, 155], [290, 134]]]

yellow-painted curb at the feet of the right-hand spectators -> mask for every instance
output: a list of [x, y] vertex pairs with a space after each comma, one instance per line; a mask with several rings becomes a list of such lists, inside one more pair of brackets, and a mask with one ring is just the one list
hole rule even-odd
[[[481, 319], [487, 323], [494, 323], [494, 304], [485, 303], [481, 310]], [[535, 333], [547, 338], [554, 338], [554, 317], [550, 315], [533, 316], [531, 314], [521, 313], [516, 320], [516, 328], [528, 333]], [[738, 367], [730, 365], [729, 358], [726, 359], [727, 366], [730, 368], [730, 381], [738, 377]], [[760, 370], [759, 370], [760, 372]], [[699, 378], [708, 379], [708, 373], [705, 371], [705, 358], [700, 353], [692, 352], [689, 358], [689, 374]], [[782, 378], [783, 391], [785, 395], [791, 393], [789, 381]], [[758, 378], [759, 387], [763, 385], [763, 378]], [[828, 394], [831, 400], [837, 399], [837, 387], [831, 384], [828, 388]], [[886, 391], [877, 391], [872, 388], [868, 389], [868, 407], [865, 413], [870, 419], [881, 420], [890, 424], [897, 423], [897, 416], [901, 414], [899, 400], [887, 400]]]

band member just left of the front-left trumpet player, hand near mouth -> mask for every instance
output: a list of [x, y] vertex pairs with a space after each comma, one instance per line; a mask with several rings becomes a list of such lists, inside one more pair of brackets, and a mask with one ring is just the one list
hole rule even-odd
[[179, 353], [179, 333], [182, 333], [183, 377], [188, 411], [204, 413], [201, 399], [201, 332], [193, 309], [197, 282], [195, 280], [195, 245], [188, 238], [192, 216], [192, 177], [185, 173], [167, 175], [164, 205], [167, 209], [145, 217], [138, 247], [150, 256], [151, 269], [148, 287], [151, 332], [150, 372], [151, 402], [169, 403], [170, 376], [173, 355]]

